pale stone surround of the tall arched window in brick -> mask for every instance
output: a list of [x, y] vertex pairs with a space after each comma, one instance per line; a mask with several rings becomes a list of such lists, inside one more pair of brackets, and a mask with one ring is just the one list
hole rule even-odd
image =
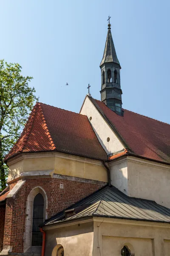
[[[24, 253], [31, 252], [35, 249], [35, 252], [39, 250], [35, 247], [41, 246], [31, 246], [31, 234], [32, 234], [32, 217], [33, 217], [33, 203], [35, 196], [40, 193], [44, 198], [44, 221], [48, 218], [47, 209], [48, 209], [48, 200], [45, 190], [41, 186], [34, 187], [29, 193], [26, 201], [26, 221], [25, 221], [25, 232], [24, 232]], [[30, 249], [32, 250], [30, 251]]]

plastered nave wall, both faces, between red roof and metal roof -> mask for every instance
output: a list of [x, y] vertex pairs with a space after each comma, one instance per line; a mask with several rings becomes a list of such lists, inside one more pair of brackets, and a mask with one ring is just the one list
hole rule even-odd
[[112, 161], [111, 184], [124, 194], [170, 208], [170, 166], [123, 157]]

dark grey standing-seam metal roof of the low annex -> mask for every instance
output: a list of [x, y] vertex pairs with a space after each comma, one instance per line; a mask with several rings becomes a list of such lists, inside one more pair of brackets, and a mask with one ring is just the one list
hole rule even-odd
[[105, 186], [68, 209], [80, 210], [68, 218], [65, 218], [64, 211], [62, 211], [45, 221], [43, 225], [90, 216], [170, 223], [170, 209], [154, 201], [131, 198], [113, 186]]

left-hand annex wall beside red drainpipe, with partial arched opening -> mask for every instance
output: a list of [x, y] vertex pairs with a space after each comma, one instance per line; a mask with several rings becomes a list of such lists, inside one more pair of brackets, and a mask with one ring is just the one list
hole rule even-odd
[[92, 255], [93, 222], [45, 231], [45, 256], [56, 256], [57, 244], [63, 246], [64, 256]]

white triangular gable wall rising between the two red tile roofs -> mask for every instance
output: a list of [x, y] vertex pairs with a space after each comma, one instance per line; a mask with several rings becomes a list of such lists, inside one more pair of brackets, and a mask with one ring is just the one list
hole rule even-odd
[[[120, 140], [116, 137], [88, 97], [86, 97], [80, 113], [88, 116], [88, 119], [90, 116], [92, 117], [90, 121], [91, 125], [107, 154], [121, 151], [124, 148]], [[108, 137], [110, 138], [109, 142], [107, 142]]]

